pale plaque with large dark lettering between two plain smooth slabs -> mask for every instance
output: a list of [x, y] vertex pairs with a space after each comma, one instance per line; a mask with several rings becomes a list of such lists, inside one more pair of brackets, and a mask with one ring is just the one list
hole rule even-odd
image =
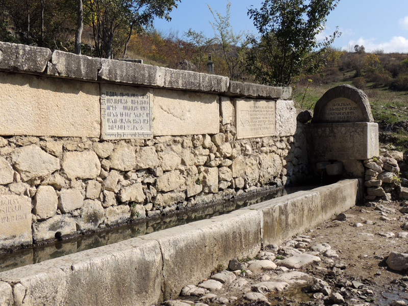
[[102, 139], [152, 138], [152, 94], [143, 89], [101, 86], [100, 118]]

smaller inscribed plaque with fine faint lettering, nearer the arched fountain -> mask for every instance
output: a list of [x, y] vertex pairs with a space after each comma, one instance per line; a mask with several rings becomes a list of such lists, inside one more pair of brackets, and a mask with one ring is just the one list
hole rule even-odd
[[237, 139], [275, 135], [275, 101], [237, 100]]

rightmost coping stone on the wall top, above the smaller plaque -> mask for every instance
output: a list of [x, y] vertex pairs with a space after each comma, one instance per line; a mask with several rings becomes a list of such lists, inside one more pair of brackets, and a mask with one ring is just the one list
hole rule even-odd
[[262, 97], [268, 99], [279, 99], [282, 98], [283, 87], [273, 87], [260, 84], [230, 81], [228, 95], [253, 98]]

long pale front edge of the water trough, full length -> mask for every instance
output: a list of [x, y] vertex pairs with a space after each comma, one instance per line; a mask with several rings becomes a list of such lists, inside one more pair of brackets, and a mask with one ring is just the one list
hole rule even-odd
[[[6, 305], [143, 305], [174, 298], [218, 265], [302, 233], [361, 199], [357, 179], [0, 273]], [[10, 288], [12, 289], [12, 295]], [[87, 298], [85, 298], [87, 297]], [[2, 299], [3, 298], [3, 299]]]

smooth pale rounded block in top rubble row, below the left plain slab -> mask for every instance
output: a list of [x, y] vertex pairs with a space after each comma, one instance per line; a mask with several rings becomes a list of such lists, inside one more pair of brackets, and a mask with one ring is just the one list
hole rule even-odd
[[95, 179], [100, 173], [100, 162], [94, 151], [66, 152], [62, 169], [70, 179]]

